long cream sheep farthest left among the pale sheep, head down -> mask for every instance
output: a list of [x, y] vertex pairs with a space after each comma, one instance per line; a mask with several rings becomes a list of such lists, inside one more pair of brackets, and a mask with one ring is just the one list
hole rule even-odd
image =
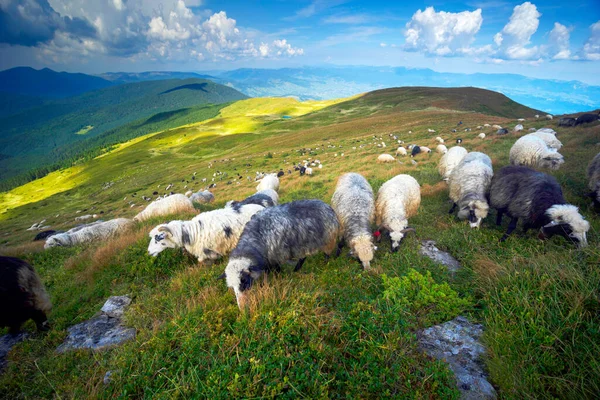
[[58, 246], [76, 246], [95, 240], [105, 240], [128, 229], [133, 221], [127, 218], [116, 218], [110, 221], [98, 221], [91, 224], [78, 226], [64, 233], [54, 234], [44, 244], [44, 249]]

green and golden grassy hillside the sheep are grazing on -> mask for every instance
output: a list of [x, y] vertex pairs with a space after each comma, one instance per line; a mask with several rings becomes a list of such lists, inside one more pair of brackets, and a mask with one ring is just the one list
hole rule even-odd
[[[236, 102], [216, 118], [137, 138], [80, 169], [31, 182], [19, 189], [20, 199], [16, 189], [3, 195], [0, 204], [10, 209], [0, 217], [0, 253], [30, 261], [55, 305], [53, 329], [10, 354], [0, 377], [3, 397], [458, 398], [445, 365], [418, 350], [416, 331], [459, 314], [484, 324], [485, 362], [501, 397], [594, 397], [600, 391], [600, 218], [582, 194], [600, 126], [561, 129], [556, 121], [530, 119], [526, 110], [510, 118], [473, 112], [476, 103], [459, 106], [453, 94], [444, 99], [438, 92], [427, 103], [416, 97], [410, 102], [402, 90], [393, 93], [337, 104]], [[506, 222], [496, 227], [493, 212], [479, 230], [457, 221], [447, 213], [438, 154], [419, 155], [416, 165], [408, 158], [375, 163], [382, 149], [374, 141], [387, 143], [387, 152], [395, 149], [389, 134], [432, 148], [439, 135], [450, 144], [462, 138], [470, 151], [489, 154], [498, 169], [521, 135], [486, 130], [488, 137], [479, 140], [479, 131], [451, 130], [458, 121], [462, 127], [512, 127], [518, 117], [528, 118], [526, 128], [559, 132], [566, 163], [553, 175], [592, 225], [588, 248], [576, 249], [561, 238], [541, 242], [520, 231], [499, 243]], [[215, 178], [216, 203], [201, 210], [220, 207], [254, 192], [256, 183], [246, 177], [255, 171], [287, 171], [309, 157], [321, 160], [323, 169], [304, 177], [286, 173], [282, 202], [329, 202], [343, 172], [362, 173], [375, 191], [408, 173], [420, 182], [423, 196], [411, 220], [417, 233], [395, 254], [382, 243], [373, 272], [362, 271], [347, 250], [330, 260], [310, 257], [298, 273], [284, 267], [251, 290], [247, 313], [238, 311], [233, 293], [216, 281], [226, 260], [198, 267], [181, 251], [156, 259], [146, 254], [146, 235], [154, 225], [192, 215], [148, 221], [114, 241], [50, 251], [30, 243], [33, 234], [25, 231], [44, 218], [55, 229], [74, 226], [79, 210], [104, 211], [105, 219], [132, 216], [145, 205], [142, 195], [162, 193], [168, 183], [175, 191], [186, 185], [197, 190], [217, 171], [224, 175]], [[32, 193], [41, 195], [30, 201]], [[463, 269], [451, 276], [420, 256], [424, 239], [436, 240]], [[392, 284], [384, 274], [401, 280]], [[107, 296], [125, 293], [134, 298], [126, 315], [138, 332], [134, 341], [100, 353], [56, 355], [67, 327], [92, 316]], [[26, 328], [34, 329], [31, 323]], [[105, 386], [109, 370], [113, 381]]]

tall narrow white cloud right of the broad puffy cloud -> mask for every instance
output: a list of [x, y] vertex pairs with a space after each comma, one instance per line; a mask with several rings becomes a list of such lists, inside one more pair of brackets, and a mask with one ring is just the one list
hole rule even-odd
[[509, 22], [494, 36], [498, 53], [510, 60], [533, 60], [539, 57], [538, 46], [527, 46], [538, 29], [541, 16], [535, 4], [528, 1], [515, 6]]

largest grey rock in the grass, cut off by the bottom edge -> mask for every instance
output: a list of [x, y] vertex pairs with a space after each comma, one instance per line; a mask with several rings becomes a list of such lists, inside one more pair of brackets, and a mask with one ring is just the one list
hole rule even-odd
[[445, 361], [454, 372], [462, 399], [496, 399], [488, 382], [481, 356], [485, 348], [479, 342], [483, 327], [456, 317], [441, 325], [420, 331], [419, 347], [431, 357]]

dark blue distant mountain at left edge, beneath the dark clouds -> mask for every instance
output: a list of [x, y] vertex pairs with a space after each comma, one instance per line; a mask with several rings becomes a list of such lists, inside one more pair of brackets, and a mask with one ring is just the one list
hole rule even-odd
[[97, 76], [56, 72], [48, 68], [16, 67], [0, 72], [0, 92], [27, 96], [70, 97], [112, 85]]

